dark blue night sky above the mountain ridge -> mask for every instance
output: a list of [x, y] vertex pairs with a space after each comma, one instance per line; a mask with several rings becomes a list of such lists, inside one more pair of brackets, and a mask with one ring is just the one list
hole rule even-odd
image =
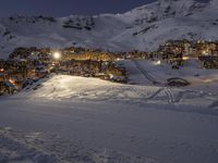
[[153, 1], [155, 0], [0, 0], [0, 16], [122, 13]]

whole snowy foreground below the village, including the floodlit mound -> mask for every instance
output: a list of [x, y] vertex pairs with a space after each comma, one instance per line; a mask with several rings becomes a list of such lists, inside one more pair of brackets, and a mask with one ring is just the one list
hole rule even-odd
[[191, 87], [50, 76], [0, 99], [0, 163], [217, 163], [218, 95]]

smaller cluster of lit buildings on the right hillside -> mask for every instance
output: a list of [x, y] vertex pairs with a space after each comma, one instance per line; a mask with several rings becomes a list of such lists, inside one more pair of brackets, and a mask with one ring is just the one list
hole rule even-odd
[[155, 54], [172, 64], [172, 68], [179, 68], [191, 58], [199, 60], [202, 68], [218, 68], [217, 41], [169, 40]]

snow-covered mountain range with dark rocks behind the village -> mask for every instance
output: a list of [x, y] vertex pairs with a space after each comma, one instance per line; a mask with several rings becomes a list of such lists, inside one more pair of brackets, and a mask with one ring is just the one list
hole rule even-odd
[[155, 50], [169, 39], [218, 39], [218, 0], [158, 0], [123, 14], [0, 18], [0, 52], [13, 48], [90, 47], [111, 51]]

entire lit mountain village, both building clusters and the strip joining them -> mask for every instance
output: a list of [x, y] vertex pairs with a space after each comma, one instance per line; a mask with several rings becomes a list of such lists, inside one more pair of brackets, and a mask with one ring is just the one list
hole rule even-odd
[[154, 52], [104, 52], [98, 49], [16, 48], [8, 60], [0, 60], [0, 96], [13, 95], [51, 73], [98, 77], [109, 82], [128, 83], [128, 72], [117, 64], [120, 60], [157, 60], [173, 70], [197, 59], [202, 68], [218, 68], [218, 42], [169, 40]]

